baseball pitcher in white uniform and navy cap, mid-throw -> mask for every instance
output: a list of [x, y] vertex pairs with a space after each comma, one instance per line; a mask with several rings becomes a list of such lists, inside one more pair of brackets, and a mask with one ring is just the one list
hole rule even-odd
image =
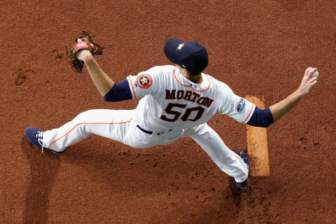
[[[209, 59], [207, 49], [195, 41], [171, 38], [165, 55], [174, 65], [154, 66], [137, 76], [115, 83], [94, 59], [92, 40], [78, 38], [71, 53], [73, 66], [81, 73], [83, 64], [107, 102], [141, 98], [134, 110], [90, 110], [53, 130], [27, 127], [25, 133], [34, 146], [63, 153], [67, 146], [90, 134], [120, 141], [134, 148], [170, 144], [183, 137], [193, 138], [216, 165], [233, 176], [239, 188], [248, 185], [250, 162], [244, 153], [234, 153], [207, 125], [222, 113], [257, 127], [267, 127], [292, 109], [316, 85], [316, 71], [304, 72], [300, 87], [281, 102], [259, 109], [237, 96], [228, 85], [203, 73]], [[93, 50], [92, 50], [93, 49]], [[79, 64], [79, 66], [77, 66]]]

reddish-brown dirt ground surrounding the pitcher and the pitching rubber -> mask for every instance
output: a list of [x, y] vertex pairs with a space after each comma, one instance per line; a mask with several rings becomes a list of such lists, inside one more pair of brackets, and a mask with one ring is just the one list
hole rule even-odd
[[[335, 1], [314, 0], [1, 0], [0, 223], [335, 223], [335, 15]], [[41, 154], [25, 127], [137, 105], [104, 102], [87, 73], [70, 69], [64, 44], [82, 29], [106, 45], [97, 60], [116, 81], [168, 64], [170, 37], [205, 45], [206, 73], [266, 106], [308, 66], [320, 80], [268, 128], [271, 176], [251, 177], [243, 192], [191, 139], [138, 150], [94, 136]], [[246, 151], [244, 125], [226, 116], [209, 125]]]

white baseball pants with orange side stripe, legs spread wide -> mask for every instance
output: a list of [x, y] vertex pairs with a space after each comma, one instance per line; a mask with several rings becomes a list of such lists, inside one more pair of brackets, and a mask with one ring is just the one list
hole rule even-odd
[[149, 148], [170, 144], [181, 137], [192, 137], [223, 172], [233, 176], [237, 182], [246, 180], [248, 169], [244, 161], [225, 146], [221, 137], [207, 123], [160, 135], [147, 134], [137, 127], [137, 122], [133, 119], [134, 112], [134, 110], [85, 111], [62, 127], [46, 131], [43, 143], [54, 151], [64, 151], [66, 146], [76, 144], [90, 134], [97, 134], [134, 148]]

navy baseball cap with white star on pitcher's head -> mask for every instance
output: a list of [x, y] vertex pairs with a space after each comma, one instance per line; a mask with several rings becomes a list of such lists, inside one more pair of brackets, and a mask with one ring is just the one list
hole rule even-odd
[[193, 75], [204, 71], [209, 64], [207, 49], [196, 41], [185, 42], [170, 38], [164, 50], [169, 61], [179, 64]]

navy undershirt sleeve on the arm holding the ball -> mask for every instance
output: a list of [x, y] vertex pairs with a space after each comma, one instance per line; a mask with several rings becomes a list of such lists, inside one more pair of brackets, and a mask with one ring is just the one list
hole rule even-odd
[[274, 123], [273, 116], [269, 107], [267, 109], [259, 109], [258, 106], [255, 106], [255, 110], [250, 120], [248, 120], [247, 125], [255, 127], [268, 127]]

